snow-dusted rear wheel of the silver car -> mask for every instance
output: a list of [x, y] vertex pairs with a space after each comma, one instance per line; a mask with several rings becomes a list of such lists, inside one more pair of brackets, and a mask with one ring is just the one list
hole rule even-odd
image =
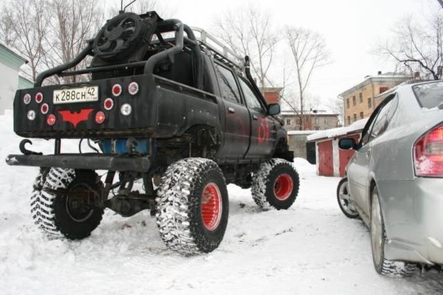
[[387, 236], [383, 221], [383, 214], [381, 213], [381, 204], [377, 187], [372, 189], [371, 196], [371, 249], [372, 261], [374, 262], [376, 272], [381, 276], [412, 276], [417, 267], [415, 263], [394, 261], [385, 258], [384, 248]]

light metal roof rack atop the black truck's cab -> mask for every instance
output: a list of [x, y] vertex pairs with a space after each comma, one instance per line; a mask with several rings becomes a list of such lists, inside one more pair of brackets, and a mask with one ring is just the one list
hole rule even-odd
[[198, 27], [190, 27], [192, 31], [197, 32], [195, 39], [200, 43], [202, 48], [206, 48], [213, 54], [214, 58], [231, 68], [239, 70], [240, 73], [244, 71], [244, 59], [239, 57], [233, 50], [230, 50], [221, 41], [215, 39], [206, 30]]

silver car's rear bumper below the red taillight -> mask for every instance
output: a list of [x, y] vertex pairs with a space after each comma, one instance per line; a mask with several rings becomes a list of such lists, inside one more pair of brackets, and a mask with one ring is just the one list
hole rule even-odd
[[443, 180], [377, 183], [385, 221], [386, 258], [443, 265]]

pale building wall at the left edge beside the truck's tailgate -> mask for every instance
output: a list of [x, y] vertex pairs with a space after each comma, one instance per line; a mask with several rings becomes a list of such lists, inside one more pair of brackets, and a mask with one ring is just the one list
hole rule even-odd
[[12, 102], [18, 86], [18, 70], [0, 63], [0, 115], [3, 115], [6, 109], [12, 110]]

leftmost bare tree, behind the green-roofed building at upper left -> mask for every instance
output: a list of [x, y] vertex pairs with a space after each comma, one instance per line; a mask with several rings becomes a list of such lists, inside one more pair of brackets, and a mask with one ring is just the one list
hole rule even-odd
[[44, 0], [16, 0], [6, 3], [0, 21], [0, 39], [27, 60], [35, 79], [46, 50], [44, 39], [51, 18]]

